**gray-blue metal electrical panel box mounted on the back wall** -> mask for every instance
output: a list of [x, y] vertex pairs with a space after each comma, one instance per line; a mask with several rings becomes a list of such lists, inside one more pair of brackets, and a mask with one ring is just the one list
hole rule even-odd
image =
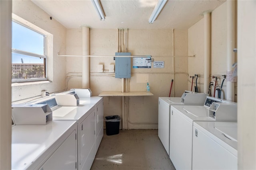
[[[131, 53], [116, 53], [116, 56], [131, 56]], [[115, 57], [116, 78], [131, 78], [131, 57]]]

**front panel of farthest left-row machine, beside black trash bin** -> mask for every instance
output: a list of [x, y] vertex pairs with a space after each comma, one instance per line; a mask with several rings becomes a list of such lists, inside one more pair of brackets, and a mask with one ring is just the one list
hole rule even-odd
[[103, 98], [95, 106], [95, 152], [103, 137]]

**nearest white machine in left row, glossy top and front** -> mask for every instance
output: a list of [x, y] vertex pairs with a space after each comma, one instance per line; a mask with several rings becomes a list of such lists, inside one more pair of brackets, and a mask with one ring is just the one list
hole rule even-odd
[[77, 170], [76, 121], [12, 126], [13, 170]]

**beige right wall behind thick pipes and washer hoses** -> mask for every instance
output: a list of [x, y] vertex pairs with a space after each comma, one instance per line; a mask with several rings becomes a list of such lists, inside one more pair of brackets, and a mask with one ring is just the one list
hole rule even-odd
[[[210, 80], [215, 81], [215, 79], [211, 78], [212, 76], [218, 77], [216, 88], [220, 88], [223, 80], [222, 75], [226, 74], [227, 68], [226, 10], [227, 2], [223, 3], [210, 14]], [[196, 55], [195, 58], [188, 59], [188, 73], [190, 76], [200, 74], [200, 78], [198, 78], [199, 92], [204, 92], [204, 19], [198, 21], [188, 29], [188, 55]], [[234, 57], [236, 61], [236, 56]], [[189, 87], [191, 88], [191, 84], [189, 84]], [[211, 93], [213, 96], [213, 86]], [[237, 88], [235, 83], [236, 93]], [[226, 80], [224, 80], [222, 94], [224, 94], [223, 98], [226, 99]]]

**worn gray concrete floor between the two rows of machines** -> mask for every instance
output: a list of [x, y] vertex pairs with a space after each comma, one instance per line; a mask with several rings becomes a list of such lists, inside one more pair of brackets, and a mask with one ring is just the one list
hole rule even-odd
[[103, 139], [91, 170], [175, 170], [158, 130], [120, 130]]

